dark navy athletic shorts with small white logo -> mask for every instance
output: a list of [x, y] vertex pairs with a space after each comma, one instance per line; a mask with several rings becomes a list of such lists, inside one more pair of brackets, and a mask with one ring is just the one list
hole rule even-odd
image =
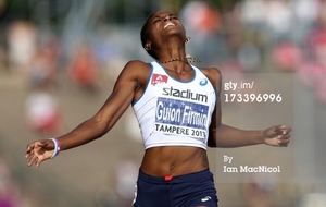
[[217, 200], [210, 170], [173, 178], [139, 171], [134, 207], [217, 207]]

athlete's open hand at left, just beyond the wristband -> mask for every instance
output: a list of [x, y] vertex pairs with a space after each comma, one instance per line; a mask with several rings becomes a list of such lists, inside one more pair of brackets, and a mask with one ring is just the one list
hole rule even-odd
[[39, 167], [40, 163], [50, 159], [54, 153], [54, 144], [51, 139], [36, 141], [27, 145], [25, 158], [28, 159], [28, 167], [35, 163]]

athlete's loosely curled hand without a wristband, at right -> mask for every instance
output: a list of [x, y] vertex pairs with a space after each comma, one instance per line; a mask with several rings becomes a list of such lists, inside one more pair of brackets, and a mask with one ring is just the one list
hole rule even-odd
[[290, 143], [291, 127], [287, 125], [275, 125], [263, 132], [264, 143], [271, 146], [287, 147]]

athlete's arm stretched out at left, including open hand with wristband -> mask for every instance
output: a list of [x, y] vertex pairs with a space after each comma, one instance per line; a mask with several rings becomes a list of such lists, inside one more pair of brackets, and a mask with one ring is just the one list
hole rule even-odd
[[[101, 109], [90, 119], [84, 121], [70, 133], [59, 136], [61, 150], [74, 148], [95, 141], [108, 133], [121, 115], [130, 106], [134, 94], [138, 87], [138, 68], [145, 64], [140, 61], [128, 62], [121, 72], [112, 94]], [[28, 166], [38, 167], [43, 160], [49, 159], [54, 151], [51, 139], [36, 141], [27, 145], [25, 158]]]

